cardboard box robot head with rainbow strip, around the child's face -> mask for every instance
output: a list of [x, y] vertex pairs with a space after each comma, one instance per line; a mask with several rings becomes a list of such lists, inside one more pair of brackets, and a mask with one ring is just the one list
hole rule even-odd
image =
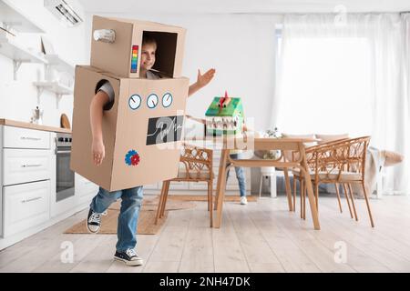
[[120, 77], [138, 78], [142, 41], [150, 35], [157, 43], [152, 70], [164, 77], [180, 77], [185, 34], [178, 26], [95, 15], [90, 65]]

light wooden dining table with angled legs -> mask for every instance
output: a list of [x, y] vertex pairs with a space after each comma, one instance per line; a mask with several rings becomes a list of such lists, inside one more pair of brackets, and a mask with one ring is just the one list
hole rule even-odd
[[[215, 194], [215, 221], [213, 227], [220, 228], [222, 223], [223, 201], [225, 196], [226, 176], [231, 167], [262, 167], [274, 166], [282, 168], [285, 177], [285, 188], [289, 211], [293, 211], [292, 190], [288, 171], [299, 168], [302, 176], [305, 177], [306, 191], [313, 218], [313, 228], [320, 229], [318, 211], [313, 195], [313, 186], [306, 162], [305, 144], [317, 140], [313, 138], [291, 138], [291, 137], [255, 137], [254, 135], [221, 135], [221, 136], [201, 136], [200, 138], [186, 139], [195, 146], [202, 146], [212, 150], [220, 150], [220, 166], [218, 171], [218, 181]], [[279, 155], [274, 159], [233, 159], [231, 151], [277, 151]], [[285, 155], [285, 154], [291, 155]], [[292, 158], [289, 158], [292, 156]]]

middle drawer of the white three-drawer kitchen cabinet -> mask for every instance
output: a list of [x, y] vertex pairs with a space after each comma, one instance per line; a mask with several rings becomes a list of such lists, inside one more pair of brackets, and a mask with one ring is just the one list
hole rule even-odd
[[13, 185], [51, 178], [51, 151], [5, 148], [3, 185]]

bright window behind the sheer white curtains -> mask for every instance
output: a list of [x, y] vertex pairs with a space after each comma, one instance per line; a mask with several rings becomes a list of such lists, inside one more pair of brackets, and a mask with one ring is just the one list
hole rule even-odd
[[370, 44], [364, 37], [294, 37], [276, 32], [278, 127], [294, 134], [368, 135], [372, 130]]

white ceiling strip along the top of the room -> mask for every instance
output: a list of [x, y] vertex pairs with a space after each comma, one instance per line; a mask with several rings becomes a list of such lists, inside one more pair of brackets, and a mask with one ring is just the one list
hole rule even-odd
[[88, 13], [284, 14], [410, 11], [409, 0], [77, 0]]

